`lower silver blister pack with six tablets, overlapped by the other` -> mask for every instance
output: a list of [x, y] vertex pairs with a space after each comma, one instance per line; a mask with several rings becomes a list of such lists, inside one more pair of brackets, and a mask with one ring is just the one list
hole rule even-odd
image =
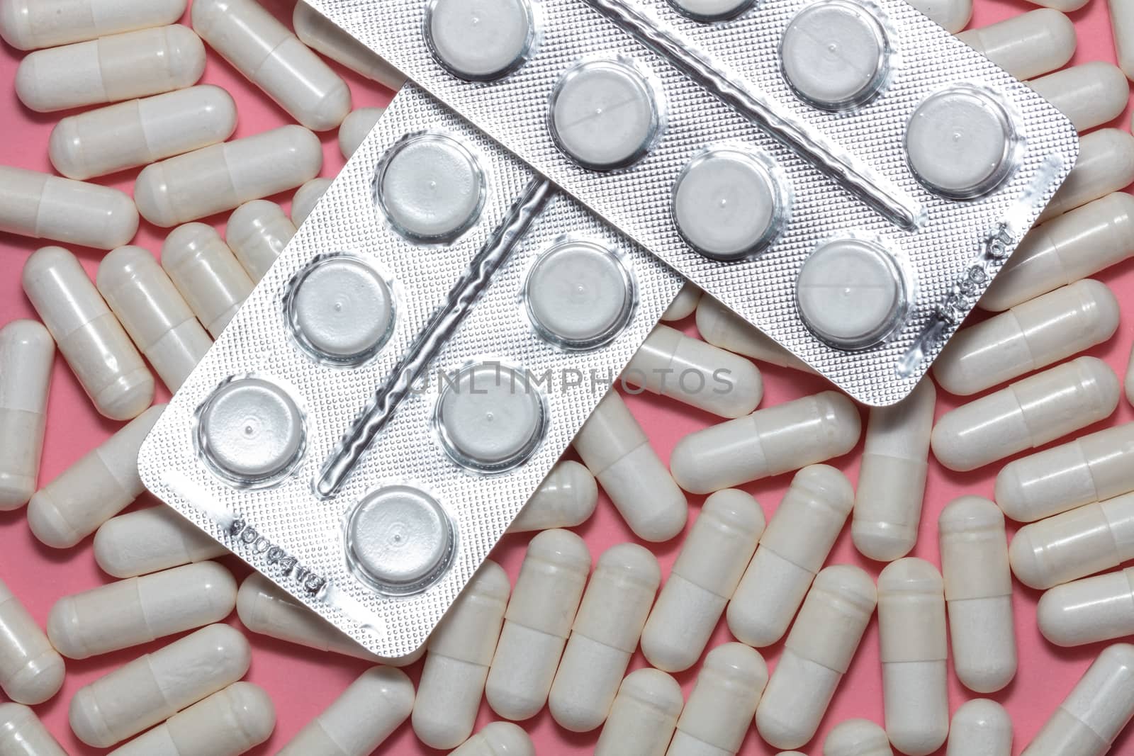
[[170, 402], [142, 479], [403, 656], [680, 287], [407, 86]]

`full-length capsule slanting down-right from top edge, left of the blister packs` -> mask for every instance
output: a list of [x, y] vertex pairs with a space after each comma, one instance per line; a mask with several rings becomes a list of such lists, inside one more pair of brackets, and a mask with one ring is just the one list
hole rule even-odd
[[313, 131], [338, 127], [350, 90], [254, 0], [196, 0], [193, 28], [221, 57]]

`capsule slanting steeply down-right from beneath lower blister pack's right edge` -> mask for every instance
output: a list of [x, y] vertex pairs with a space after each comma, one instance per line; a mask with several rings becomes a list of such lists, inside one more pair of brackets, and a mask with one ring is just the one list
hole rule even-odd
[[682, 532], [685, 494], [617, 392], [602, 398], [573, 444], [637, 537], [657, 543]]

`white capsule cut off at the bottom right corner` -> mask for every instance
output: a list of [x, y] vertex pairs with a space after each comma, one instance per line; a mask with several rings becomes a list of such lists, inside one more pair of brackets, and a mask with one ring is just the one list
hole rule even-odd
[[1019, 756], [1102, 756], [1134, 715], [1134, 646], [1094, 660]]

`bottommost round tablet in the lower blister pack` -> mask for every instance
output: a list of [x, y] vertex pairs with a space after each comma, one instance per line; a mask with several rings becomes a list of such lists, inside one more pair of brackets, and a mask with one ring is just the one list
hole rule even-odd
[[411, 486], [373, 491], [347, 516], [347, 561], [356, 576], [384, 593], [425, 588], [445, 572], [455, 545], [445, 510]]

